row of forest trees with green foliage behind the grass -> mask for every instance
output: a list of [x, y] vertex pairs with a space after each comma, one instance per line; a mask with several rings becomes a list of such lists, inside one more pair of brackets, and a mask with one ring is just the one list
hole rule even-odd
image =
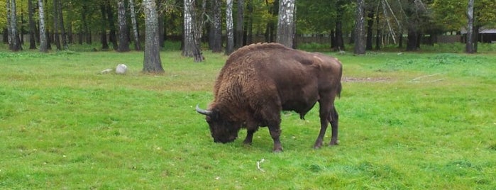
[[[470, 35], [475, 39], [473, 52], [477, 52], [478, 41], [496, 41], [495, 33], [485, 38], [478, 34], [481, 28], [495, 28], [496, 1], [472, 1], [473, 22], [468, 22], [469, 2], [155, 0], [153, 6], [158, 13], [156, 25], [161, 47], [170, 40], [182, 41], [184, 48], [191, 41], [187, 39], [194, 38], [196, 42], [193, 44], [201, 46], [197, 48], [200, 51], [221, 52], [226, 48], [228, 54], [232, 48], [250, 43], [279, 42], [277, 37], [289, 36], [291, 44], [288, 46], [292, 47], [301, 43], [319, 43], [330, 45], [336, 51], [345, 51], [353, 47], [348, 47], [348, 44], [357, 46], [356, 41], [361, 43], [363, 39], [358, 46], [365, 47], [365, 50], [395, 45], [415, 51], [421, 43], [444, 43], [438, 37], [445, 35], [461, 36], [454, 41], [465, 43], [470, 40], [464, 34], [471, 23], [473, 28], [468, 32], [473, 33]], [[280, 4], [285, 4], [285, 7], [280, 7]], [[9, 47], [14, 51], [38, 48], [42, 12], [48, 49], [64, 50], [68, 44], [99, 43], [100, 47], [94, 50], [126, 52], [141, 50], [145, 41], [146, 16], [140, 0], [7, 0], [0, 1], [0, 6], [6, 8], [0, 11], [2, 41], [9, 44], [19, 41], [19, 47]], [[292, 28], [286, 28], [285, 33], [278, 35], [280, 24], [277, 19], [281, 10], [291, 14], [288, 20]], [[18, 39], [12, 36], [18, 36]], [[183, 52], [186, 56], [193, 54]]]

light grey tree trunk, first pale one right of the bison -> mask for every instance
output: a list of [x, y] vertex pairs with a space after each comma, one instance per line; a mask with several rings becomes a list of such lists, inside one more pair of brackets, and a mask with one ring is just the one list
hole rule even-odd
[[355, 50], [357, 55], [365, 54], [365, 2], [356, 1]]

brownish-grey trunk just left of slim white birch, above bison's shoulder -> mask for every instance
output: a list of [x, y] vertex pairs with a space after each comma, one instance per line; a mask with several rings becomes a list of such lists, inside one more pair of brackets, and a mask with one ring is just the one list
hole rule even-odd
[[211, 24], [211, 45], [212, 52], [222, 52], [222, 17], [221, 17], [221, 1], [214, 0], [212, 2], [213, 21]]

